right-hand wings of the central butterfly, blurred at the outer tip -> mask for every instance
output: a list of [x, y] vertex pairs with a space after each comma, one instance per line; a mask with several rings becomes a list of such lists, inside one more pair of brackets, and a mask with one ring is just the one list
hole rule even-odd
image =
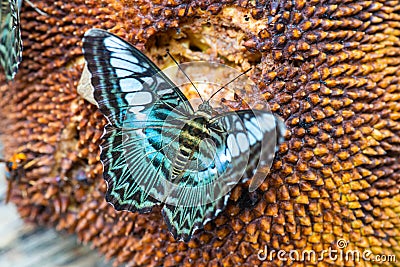
[[[214, 125], [211, 127], [211, 139], [216, 146], [214, 164], [205, 171], [190, 174], [192, 179], [182, 179], [179, 190], [170, 192], [167, 202], [173, 205], [167, 204], [162, 209], [178, 239], [189, 240], [196, 229], [224, 209], [234, 185], [252, 178], [259, 167], [272, 163], [285, 129], [277, 117], [257, 110], [220, 114], [214, 118]], [[202, 160], [209, 156], [203, 152], [196, 157]]]

